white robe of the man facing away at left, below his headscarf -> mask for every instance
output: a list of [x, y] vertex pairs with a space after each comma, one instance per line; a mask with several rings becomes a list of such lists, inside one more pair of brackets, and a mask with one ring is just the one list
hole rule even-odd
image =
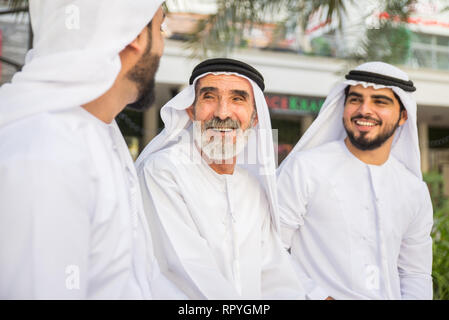
[[115, 122], [81, 107], [40, 113], [0, 130], [0, 154], [0, 299], [155, 297], [160, 272]]

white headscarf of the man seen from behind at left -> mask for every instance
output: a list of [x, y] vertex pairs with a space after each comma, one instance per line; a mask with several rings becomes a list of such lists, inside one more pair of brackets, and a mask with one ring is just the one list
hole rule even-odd
[[44, 111], [92, 101], [114, 83], [119, 52], [163, 0], [33, 0], [33, 49], [23, 70], [0, 88], [0, 128]]

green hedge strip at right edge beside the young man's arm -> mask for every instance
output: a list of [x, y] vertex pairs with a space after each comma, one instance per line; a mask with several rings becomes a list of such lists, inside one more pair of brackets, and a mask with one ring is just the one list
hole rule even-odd
[[424, 175], [432, 197], [434, 210], [433, 292], [434, 299], [449, 299], [449, 199], [443, 195], [443, 178], [437, 172]]

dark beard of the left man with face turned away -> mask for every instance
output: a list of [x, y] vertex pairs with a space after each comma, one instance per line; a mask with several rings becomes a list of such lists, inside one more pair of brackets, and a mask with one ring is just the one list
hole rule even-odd
[[159, 68], [160, 57], [144, 52], [137, 64], [128, 73], [128, 78], [137, 83], [137, 100], [126, 107], [135, 111], [148, 110], [156, 99], [154, 76]]

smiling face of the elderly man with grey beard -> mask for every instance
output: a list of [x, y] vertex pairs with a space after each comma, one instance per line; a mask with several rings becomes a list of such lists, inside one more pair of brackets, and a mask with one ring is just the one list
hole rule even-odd
[[187, 113], [197, 127], [195, 141], [210, 160], [235, 157], [246, 145], [247, 129], [257, 124], [252, 86], [236, 75], [199, 79]]

